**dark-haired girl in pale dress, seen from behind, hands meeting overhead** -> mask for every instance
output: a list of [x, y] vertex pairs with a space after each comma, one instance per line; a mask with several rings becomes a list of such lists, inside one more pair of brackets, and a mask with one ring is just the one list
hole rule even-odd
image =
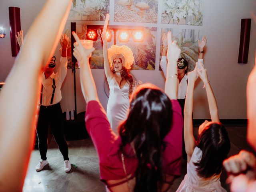
[[[184, 110], [184, 140], [188, 158], [187, 174], [176, 192], [225, 192], [220, 184], [222, 162], [230, 151], [228, 132], [220, 123], [218, 107], [207, 77], [201, 64], [188, 73], [188, 90]], [[198, 139], [193, 134], [192, 110], [193, 92], [197, 77], [204, 82], [210, 116], [198, 129]]]

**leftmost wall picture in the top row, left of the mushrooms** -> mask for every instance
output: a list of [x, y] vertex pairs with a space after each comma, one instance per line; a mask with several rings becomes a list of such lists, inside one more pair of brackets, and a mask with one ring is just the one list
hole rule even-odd
[[68, 20], [104, 21], [110, 0], [73, 0]]

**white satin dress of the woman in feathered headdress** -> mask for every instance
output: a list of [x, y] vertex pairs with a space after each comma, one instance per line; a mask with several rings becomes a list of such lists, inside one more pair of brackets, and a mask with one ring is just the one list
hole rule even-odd
[[129, 108], [129, 89], [130, 86], [126, 82], [122, 89], [120, 89], [118, 82], [113, 77], [109, 85], [109, 98], [107, 106], [107, 118], [110, 122], [112, 130], [118, 134], [118, 125], [120, 121], [125, 120], [127, 117], [127, 111]]

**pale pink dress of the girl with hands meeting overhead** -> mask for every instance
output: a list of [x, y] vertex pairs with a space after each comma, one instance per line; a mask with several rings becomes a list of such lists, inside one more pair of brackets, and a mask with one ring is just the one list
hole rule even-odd
[[200, 161], [201, 158], [202, 151], [196, 147], [187, 164], [187, 174], [176, 192], [226, 192], [220, 184], [220, 174], [207, 179], [198, 176], [194, 162]]

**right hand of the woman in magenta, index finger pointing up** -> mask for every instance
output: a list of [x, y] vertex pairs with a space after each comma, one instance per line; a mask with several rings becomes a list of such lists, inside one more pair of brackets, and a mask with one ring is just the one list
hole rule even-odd
[[177, 45], [176, 41], [172, 41], [172, 32], [168, 32], [167, 34], [167, 42], [168, 42], [168, 50], [167, 56], [168, 60], [175, 60], [177, 62], [180, 57], [180, 48]]

